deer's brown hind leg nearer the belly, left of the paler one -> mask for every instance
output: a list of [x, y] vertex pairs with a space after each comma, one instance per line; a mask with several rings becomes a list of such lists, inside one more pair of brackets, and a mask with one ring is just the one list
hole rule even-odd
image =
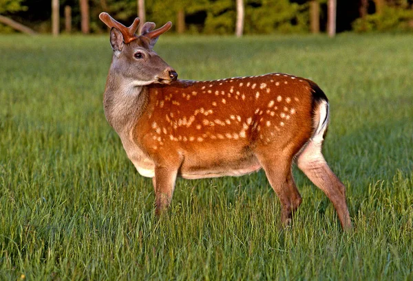
[[291, 171], [292, 156], [268, 155], [266, 153], [256, 156], [281, 203], [281, 221], [284, 225], [290, 225], [293, 212], [297, 210], [302, 201]]

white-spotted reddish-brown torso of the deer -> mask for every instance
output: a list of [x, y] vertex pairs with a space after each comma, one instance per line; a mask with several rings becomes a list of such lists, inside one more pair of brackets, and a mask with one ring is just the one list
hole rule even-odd
[[[313, 133], [312, 87], [308, 80], [286, 74], [178, 80], [168, 86], [135, 89], [131, 101], [125, 105], [105, 102], [105, 109], [132, 113], [119, 118], [129, 119], [126, 131], [122, 132], [123, 124], [117, 131], [140, 175], [153, 177], [153, 159], [162, 155], [166, 161], [180, 159], [178, 176], [185, 179], [239, 176], [262, 168], [256, 148], [277, 139], [277, 146], [283, 150], [291, 146], [288, 149], [296, 155], [308, 142]], [[299, 95], [289, 94], [290, 89]], [[132, 104], [133, 110], [125, 109]], [[116, 128], [111, 115], [107, 119]], [[293, 133], [290, 138], [283, 138], [286, 131]]]

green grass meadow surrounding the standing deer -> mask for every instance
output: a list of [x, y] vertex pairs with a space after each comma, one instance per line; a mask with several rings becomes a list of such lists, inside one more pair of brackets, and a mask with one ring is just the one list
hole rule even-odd
[[413, 36], [163, 36], [180, 78], [282, 71], [330, 98], [324, 154], [354, 232], [295, 170], [293, 227], [263, 172], [178, 180], [156, 219], [107, 124], [108, 36], [0, 37], [0, 280], [412, 280]]

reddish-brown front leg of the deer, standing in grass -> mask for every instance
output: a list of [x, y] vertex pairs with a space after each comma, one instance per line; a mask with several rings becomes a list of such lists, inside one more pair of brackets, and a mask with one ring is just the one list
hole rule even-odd
[[155, 177], [153, 177], [152, 183], [153, 190], [155, 190], [156, 215], [160, 215], [171, 203], [177, 173], [177, 169], [155, 167]]

